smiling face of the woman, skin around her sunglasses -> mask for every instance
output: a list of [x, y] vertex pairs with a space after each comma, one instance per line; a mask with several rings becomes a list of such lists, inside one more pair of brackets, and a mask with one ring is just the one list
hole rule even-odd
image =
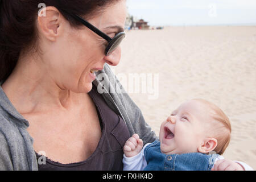
[[[124, 30], [126, 20], [126, 1], [121, 0], [110, 5], [105, 11], [88, 22], [106, 35], [113, 38]], [[106, 40], [87, 27], [73, 28], [67, 23], [67, 33], [59, 41], [58, 59], [53, 61], [56, 82], [61, 89], [69, 89], [76, 93], [88, 93], [92, 89], [92, 81], [96, 76], [92, 71], [102, 70], [104, 64], [118, 65], [121, 59], [121, 47], [105, 56]], [[111, 28], [109, 28], [111, 27]]]

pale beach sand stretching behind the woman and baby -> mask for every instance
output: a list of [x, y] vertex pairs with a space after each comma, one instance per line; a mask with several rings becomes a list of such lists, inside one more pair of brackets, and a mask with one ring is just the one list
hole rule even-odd
[[256, 27], [131, 30], [112, 69], [127, 77], [159, 75], [155, 100], [148, 92], [129, 93], [157, 135], [160, 123], [184, 101], [203, 98], [218, 105], [232, 123], [224, 157], [256, 169]]

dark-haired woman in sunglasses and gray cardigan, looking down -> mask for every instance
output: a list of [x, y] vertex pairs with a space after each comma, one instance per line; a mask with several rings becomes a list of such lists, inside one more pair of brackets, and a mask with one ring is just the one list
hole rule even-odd
[[0, 169], [122, 170], [132, 134], [154, 142], [108, 66], [121, 57], [125, 3], [0, 0]]

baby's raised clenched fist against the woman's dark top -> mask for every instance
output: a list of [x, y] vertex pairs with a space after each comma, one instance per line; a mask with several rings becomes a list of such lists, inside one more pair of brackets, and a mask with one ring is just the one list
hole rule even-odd
[[143, 141], [139, 138], [138, 134], [134, 134], [131, 138], [129, 138], [125, 142], [125, 146], [123, 147], [123, 152], [127, 158], [131, 158], [139, 152], [141, 152], [143, 148]]

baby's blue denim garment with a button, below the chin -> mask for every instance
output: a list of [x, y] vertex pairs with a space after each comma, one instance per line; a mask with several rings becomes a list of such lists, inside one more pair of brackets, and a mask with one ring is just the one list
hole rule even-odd
[[162, 154], [160, 142], [149, 144], [144, 149], [147, 167], [144, 171], [210, 171], [218, 154]]

